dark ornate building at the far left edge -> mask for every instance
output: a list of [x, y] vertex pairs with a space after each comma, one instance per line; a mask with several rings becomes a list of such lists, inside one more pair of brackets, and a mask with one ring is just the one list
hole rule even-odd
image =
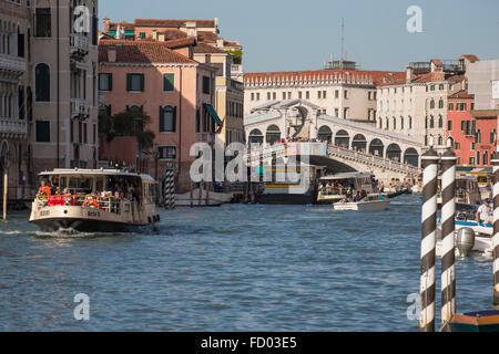
[[7, 174], [9, 200], [26, 198], [33, 183], [31, 13], [24, 1], [0, 1], [0, 190]]

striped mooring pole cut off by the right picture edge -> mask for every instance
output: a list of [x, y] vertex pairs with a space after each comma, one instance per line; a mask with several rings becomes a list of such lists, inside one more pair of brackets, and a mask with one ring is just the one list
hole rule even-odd
[[492, 154], [493, 170], [493, 236], [492, 236], [492, 272], [493, 272], [493, 304], [499, 305], [499, 145]]

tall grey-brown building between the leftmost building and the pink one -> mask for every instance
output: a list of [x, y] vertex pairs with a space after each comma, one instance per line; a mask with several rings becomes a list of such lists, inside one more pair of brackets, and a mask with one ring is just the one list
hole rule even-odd
[[40, 0], [33, 11], [34, 171], [96, 167], [98, 1]]

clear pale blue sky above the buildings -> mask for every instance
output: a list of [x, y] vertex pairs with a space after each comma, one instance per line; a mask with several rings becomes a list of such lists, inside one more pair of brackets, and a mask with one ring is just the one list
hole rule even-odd
[[[409, 33], [421, 9], [422, 32]], [[220, 35], [243, 45], [245, 72], [317, 70], [345, 52], [363, 70], [405, 71], [409, 62], [499, 59], [498, 0], [101, 0], [99, 17], [214, 19]], [[346, 56], [346, 55], [345, 55]]]

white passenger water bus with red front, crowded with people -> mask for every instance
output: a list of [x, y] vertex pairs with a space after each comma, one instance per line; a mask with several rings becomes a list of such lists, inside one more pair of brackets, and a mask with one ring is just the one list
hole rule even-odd
[[[54, 169], [39, 174], [60, 194], [40, 188], [31, 204], [30, 222], [42, 231], [123, 232], [153, 226], [156, 181], [149, 175], [120, 169]], [[113, 189], [120, 191], [112, 192]]]

